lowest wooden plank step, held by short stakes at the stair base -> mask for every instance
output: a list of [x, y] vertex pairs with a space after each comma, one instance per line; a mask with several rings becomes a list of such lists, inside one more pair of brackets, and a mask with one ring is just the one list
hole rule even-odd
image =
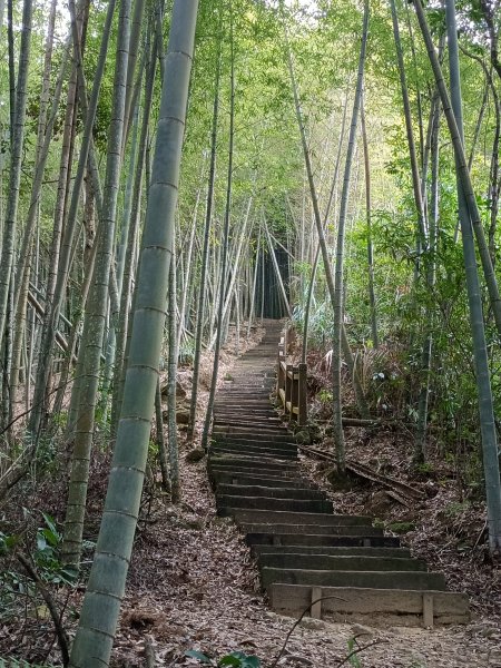
[[469, 601], [464, 593], [438, 590], [373, 589], [354, 587], [312, 587], [275, 583], [268, 589], [271, 607], [281, 615], [298, 617], [312, 602], [312, 595], [326, 598], [317, 617], [346, 622], [385, 621], [399, 626], [468, 623]]

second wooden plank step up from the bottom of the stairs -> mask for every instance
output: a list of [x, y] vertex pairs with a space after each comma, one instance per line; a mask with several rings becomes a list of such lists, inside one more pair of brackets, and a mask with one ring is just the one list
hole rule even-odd
[[436, 591], [446, 589], [442, 573], [422, 571], [331, 571], [265, 567], [261, 569], [261, 581], [266, 590], [274, 582], [364, 589], [434, 589]]

